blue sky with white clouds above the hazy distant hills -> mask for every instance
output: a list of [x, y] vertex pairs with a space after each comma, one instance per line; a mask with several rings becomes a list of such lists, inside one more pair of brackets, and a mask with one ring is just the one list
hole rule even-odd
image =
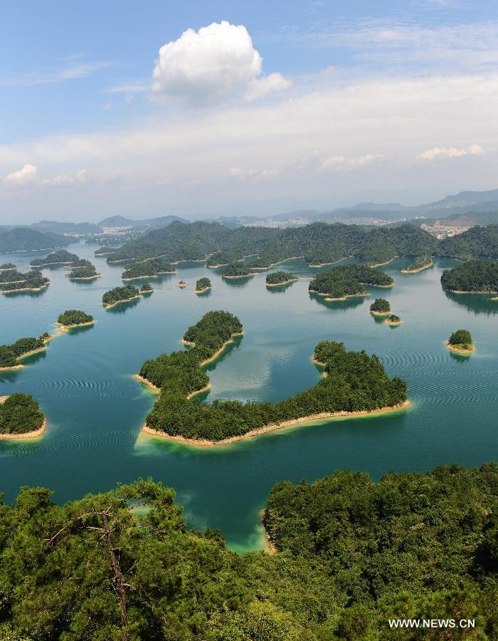
[[18, 0], [0, 29], [0, 224], [498, 187], [494, 0]]

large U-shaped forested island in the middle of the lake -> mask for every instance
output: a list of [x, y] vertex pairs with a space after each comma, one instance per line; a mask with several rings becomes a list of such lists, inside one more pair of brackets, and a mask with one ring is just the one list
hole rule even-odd
[[203, 366], [242, 332], [236, 316], [211, 311], [186, 331], [184, 343], [191, 346], [189, 350], [145, 361], [139, 380], [160, 393], [144, 432], [189, 444], [221, 445], [317, 419], [363, 416], [408, 405], [406, 382], [398, 377], [391, 380], [376, 355], [349, 352], [344, 343], [332, 341], [315, 348], [314, 360], [324, 365], [324, 377], [311, 390], [275, 404], [194, 402], [194, 395], [209, 389]]

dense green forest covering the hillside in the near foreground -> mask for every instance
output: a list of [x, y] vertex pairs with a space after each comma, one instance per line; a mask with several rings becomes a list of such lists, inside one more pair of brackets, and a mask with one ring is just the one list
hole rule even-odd
[[0, 638], [416, 641], [388, 618], [435, 616], [475, 619], [448, 640], [498, 637], [495, 464], [281, 481], [272, 555], [189, 529], [174, 498], [140, 480], [63, 506], [23, 487], [0, 505]]

